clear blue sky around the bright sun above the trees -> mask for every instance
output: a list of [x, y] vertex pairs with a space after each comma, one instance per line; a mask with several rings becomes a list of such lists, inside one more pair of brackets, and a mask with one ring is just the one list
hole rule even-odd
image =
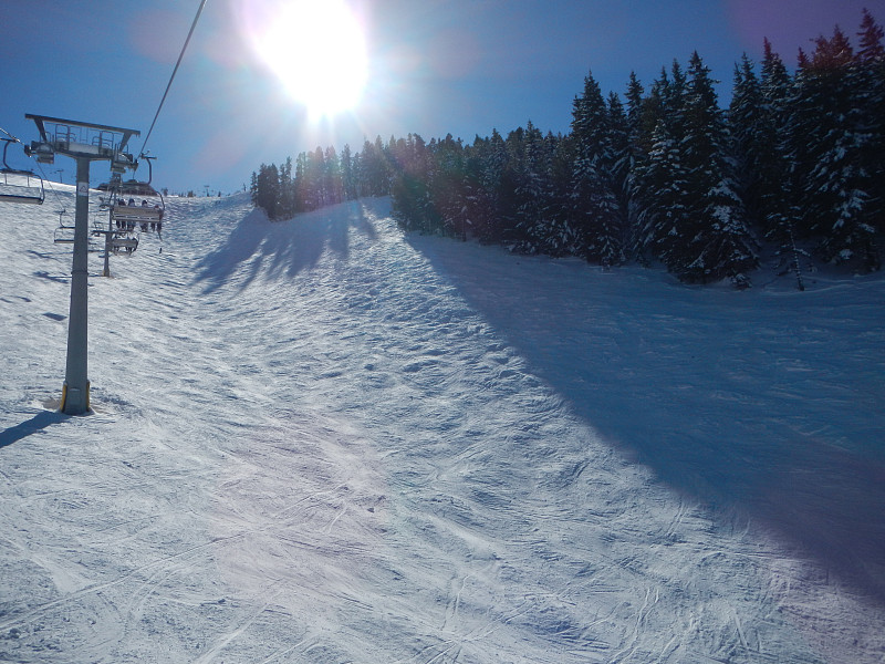
[[[154, 184], [174, 191], [231, 191], [261, 163], [317, 145], [339, 152], [364, 138], [451, 133], [465, 141], [531, 120], [566, 132], [589, 71], [623, 93], [697, 50], [727, 102], [733, 63], [758, 61], [768, 37], [788, 66], [835, 24], [854, 38], [866, 7], [885, 0], [354, 0], [368, 83], [344, 114], [315, 122], [254, 51], [243, 15], [287, 0], [208, 0], [147, 149]], [[199, 0], [0, 0], [0, 127], [37, 138], [25, 113], [131, 127], [140, 148]], [[317, 25], [329, 49], [340, 30]], [[316, 66], [317, 52], [304, 64]], [[27, 166], [27, 160], [15, 165]], [[71, 183], [60, 157], [46, 173]], [[139, 172], [139, 176], [142, 173]], [[93, 181], [106, 179], [101, 164]]]

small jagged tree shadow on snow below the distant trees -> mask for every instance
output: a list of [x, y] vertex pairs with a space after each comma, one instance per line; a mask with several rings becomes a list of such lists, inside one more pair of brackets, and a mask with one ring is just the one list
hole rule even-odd
[[206, 281], [204, 292], [212, 292], [228, 282], [244, 289], [262, 272], [292, 278], [327, 250], [347, 258], [351, 228], [375, 237], [365, 208], [355, 200], [285, 221], [269, 221], [263, 211], [252, 210], [221, 247], [199, 261], [196, 281]]

